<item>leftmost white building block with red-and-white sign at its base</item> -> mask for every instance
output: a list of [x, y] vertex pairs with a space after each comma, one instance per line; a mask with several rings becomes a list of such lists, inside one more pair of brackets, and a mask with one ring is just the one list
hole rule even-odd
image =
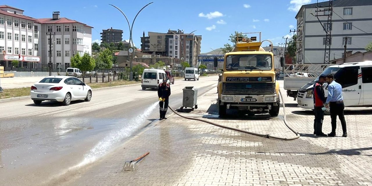
[[25, 68], [28, 62], [41, 61], [41, 24], [23, 12], [15, 7], [0, 6], [0, 65], [4, 67], [10, 67], [13, 60], [18, 60]]

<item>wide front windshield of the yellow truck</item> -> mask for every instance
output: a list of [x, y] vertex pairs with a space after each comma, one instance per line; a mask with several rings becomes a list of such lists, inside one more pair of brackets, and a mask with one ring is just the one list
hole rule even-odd
[[228, 55], [226, 70], [271, 70], [272, 57], [267, 54]]

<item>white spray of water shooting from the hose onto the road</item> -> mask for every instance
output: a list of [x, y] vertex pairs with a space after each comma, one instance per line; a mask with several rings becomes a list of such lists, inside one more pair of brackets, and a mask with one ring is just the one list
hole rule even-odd
[[133, 132], [140, 127], [140, 124], [147, 118], [148, 115], [156, 108], [159, 103], [156, 102], [147, 108], [142, 114], [136, 116], [129, 120], [128, 125], [125, 125], [124, 128], [111, 132], [108, 136], [103, 138], [96, 146], [94, 146], [88, 154], [84, 155], [84, 160], [78, 164], [76, 167], [86, 165], [91, 163], [97, 158], [102, 157], [107, 153], [113, 145], [116, 145], [118, 142], [123, 140], [126, 137], [129, 137]]

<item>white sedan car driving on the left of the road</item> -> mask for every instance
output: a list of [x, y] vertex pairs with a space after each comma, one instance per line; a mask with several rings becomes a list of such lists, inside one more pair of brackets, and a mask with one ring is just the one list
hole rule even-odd
[[62, 102], [70, 105], [71, 101], [92, 99], [92, 88], [71, 76], [48, 76], [31, 86], [31, 99], [35, 105], [42, 101]]

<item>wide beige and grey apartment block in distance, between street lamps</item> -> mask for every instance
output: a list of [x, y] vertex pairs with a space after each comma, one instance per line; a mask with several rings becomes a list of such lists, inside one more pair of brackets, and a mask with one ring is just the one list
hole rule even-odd
[[201, 53], [201, 41], [200, 35], [169, 29], [167, 33], [148, 32], [147, 37], [143, 33], [141, 48], [142, 52], [179, 58], [195, 67]]

